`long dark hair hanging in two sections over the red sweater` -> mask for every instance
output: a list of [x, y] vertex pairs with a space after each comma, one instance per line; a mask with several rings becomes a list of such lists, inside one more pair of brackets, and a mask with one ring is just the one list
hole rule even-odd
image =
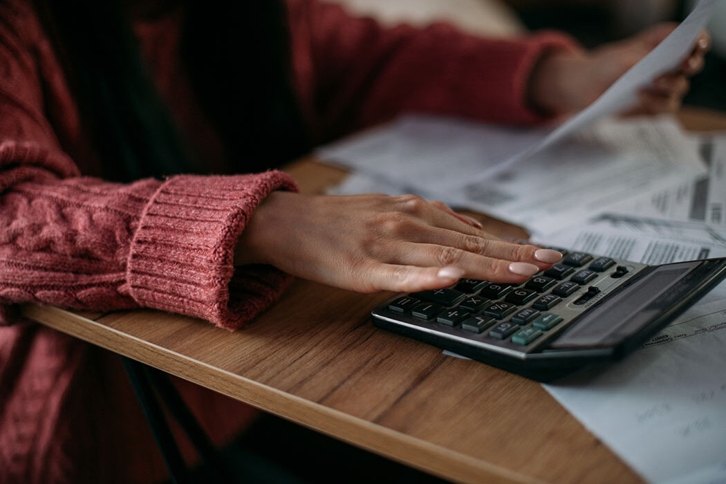
[[[189, 173], [191, 163], [139, 53], [120, 0], [36, 0], [102, 157], [118, 181]], [[184, 2], [181, 55], [235, 171], [273, 168], [308, 148], [277, 0]], [[242, 161], [244, 160], [244, 161]]]

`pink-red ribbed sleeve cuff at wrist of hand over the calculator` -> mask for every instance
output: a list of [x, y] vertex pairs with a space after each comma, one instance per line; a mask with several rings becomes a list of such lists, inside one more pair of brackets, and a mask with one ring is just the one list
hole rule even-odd
[[174, 176], [144, 208], [127, 266], [131, 296], [149, 308], [236, 329], [290, 282], [271, 266], [233, 266], [238, 237], [259, 203], [295, 191], [280, 171], [238, 176]]

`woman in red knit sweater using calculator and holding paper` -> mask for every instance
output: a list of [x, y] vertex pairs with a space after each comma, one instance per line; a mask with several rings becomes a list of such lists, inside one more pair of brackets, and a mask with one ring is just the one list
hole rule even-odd
[[[290, 275], [362, 292], [521, 282], [560, 255], [439, 202], [309, 197], [265, 170], [402, 110], [566, 115], [672, 28], [587, 53], [556, 33], [486, 40], [386, 30], [315, 0], [234, 3], [0, 3], [3, 482], [163, 478], [115, 358], [22, 321], [17, 304], [158, 308], [236, 329]], [[633, 110], [677, 107], [707, 44]], [[179, 385], [216, 443], [253, 414]]]

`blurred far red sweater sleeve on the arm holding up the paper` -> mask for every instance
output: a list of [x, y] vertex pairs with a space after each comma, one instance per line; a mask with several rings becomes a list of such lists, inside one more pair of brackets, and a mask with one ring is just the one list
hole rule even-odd
[[481, 38], [445, 23], [383, 28], [317, 0], [290, 0], [288, 8], [298, 91], [322, 139], [401, 111], [537, 123], [545, 117], [526, 92], [534, 65], [551, 49], [579, 49], [553, 31]]

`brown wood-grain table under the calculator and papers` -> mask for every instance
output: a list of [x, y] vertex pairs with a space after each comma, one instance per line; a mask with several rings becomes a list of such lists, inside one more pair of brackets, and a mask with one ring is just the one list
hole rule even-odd
[[[688, 128], [726, 129], [689, 110]], [[290, 165], [306, 192], [343, 172]], [[492, 231], [522, 233], [494, 219]], [[536, 382], [444, 356], [372, 326], [391, 294], [298, 280], [234, 333], [158, 311], [78, 313], [25, 305], [36, 321], [340, 440], [463, 483], [633, 483], [629, 467]]]

